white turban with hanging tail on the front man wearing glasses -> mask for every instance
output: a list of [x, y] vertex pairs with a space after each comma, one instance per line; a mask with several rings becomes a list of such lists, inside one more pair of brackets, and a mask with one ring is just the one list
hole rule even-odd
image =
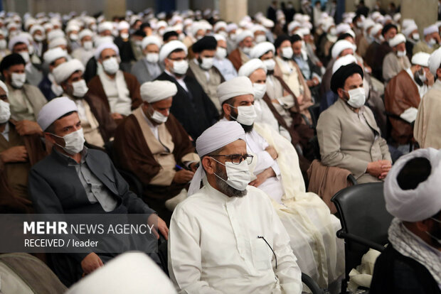
[[[217, 124], [203, 131], [201, 136], [198, 137], [196, 140], [196, 151], [198, 152], [198, 156], [202, 158], [239, 139], [245, 141], [245, 131], [243, 131], [243, 127], [240, 126], [237, 121], [219, 121]], [[203, 176], [204, 171], [201, 163], [193, 175], [193, 180], [191, 180], [191, 185], [188, 188], [188, 196], [198, 192]]]

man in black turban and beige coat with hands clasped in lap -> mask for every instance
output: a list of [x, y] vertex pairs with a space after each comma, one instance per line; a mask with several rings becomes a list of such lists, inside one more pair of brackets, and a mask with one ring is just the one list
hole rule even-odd
[[358, 183], [379, 182], [390, 170], [390, 153], [371, 109], [364, 106], [363, 70], [356, 63], [341, 66], [331, 78], [339, 99], [317, 123], [322, 164], [349, 170]]

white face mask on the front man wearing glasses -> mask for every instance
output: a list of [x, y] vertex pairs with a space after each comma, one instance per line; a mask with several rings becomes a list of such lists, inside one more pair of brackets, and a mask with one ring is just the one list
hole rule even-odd
[[214, 158], [213, 160], [225, 166], [225, 170], [227, 171], [227, 180], [224, 180], [215, 173], [214, 175], [216, 175], [216, 177], [223, 180], [230, 187], [235, 188], [235, 190], [243, 191], [247, 188], [248, 184], [251, 181], [251, 174], [250, 174], [250, 168], [248, 167], [248, 163], [246, 160], [243, 160], [239, 164], [234, 164], [230, 161], [226, 161], [225, 164], [223, 164]]

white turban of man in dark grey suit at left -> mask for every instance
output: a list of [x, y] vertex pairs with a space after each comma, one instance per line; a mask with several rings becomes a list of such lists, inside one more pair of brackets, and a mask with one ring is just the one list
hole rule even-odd
[[46, 103], [38, 113], [37, 124], [43, 131], [54, 121], [71, 111], [78, 111], [77, 104], [68, 97], [59, 97]]

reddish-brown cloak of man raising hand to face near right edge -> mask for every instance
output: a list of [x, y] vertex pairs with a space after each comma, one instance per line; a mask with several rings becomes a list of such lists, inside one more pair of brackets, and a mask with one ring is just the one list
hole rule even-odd
[[[409, 107], [418, 109], [420, 101], [418, 87], [405, 70], [401, 70], [386, 86], [384, 104], [386, 111], [393, 116], [400, 116]], [[391, 116], [389, 116], [389, 121], [392, 124], [390, 136], [395, 142], [407, 144], [412, 141], [413, 127], [407, 121]]]

